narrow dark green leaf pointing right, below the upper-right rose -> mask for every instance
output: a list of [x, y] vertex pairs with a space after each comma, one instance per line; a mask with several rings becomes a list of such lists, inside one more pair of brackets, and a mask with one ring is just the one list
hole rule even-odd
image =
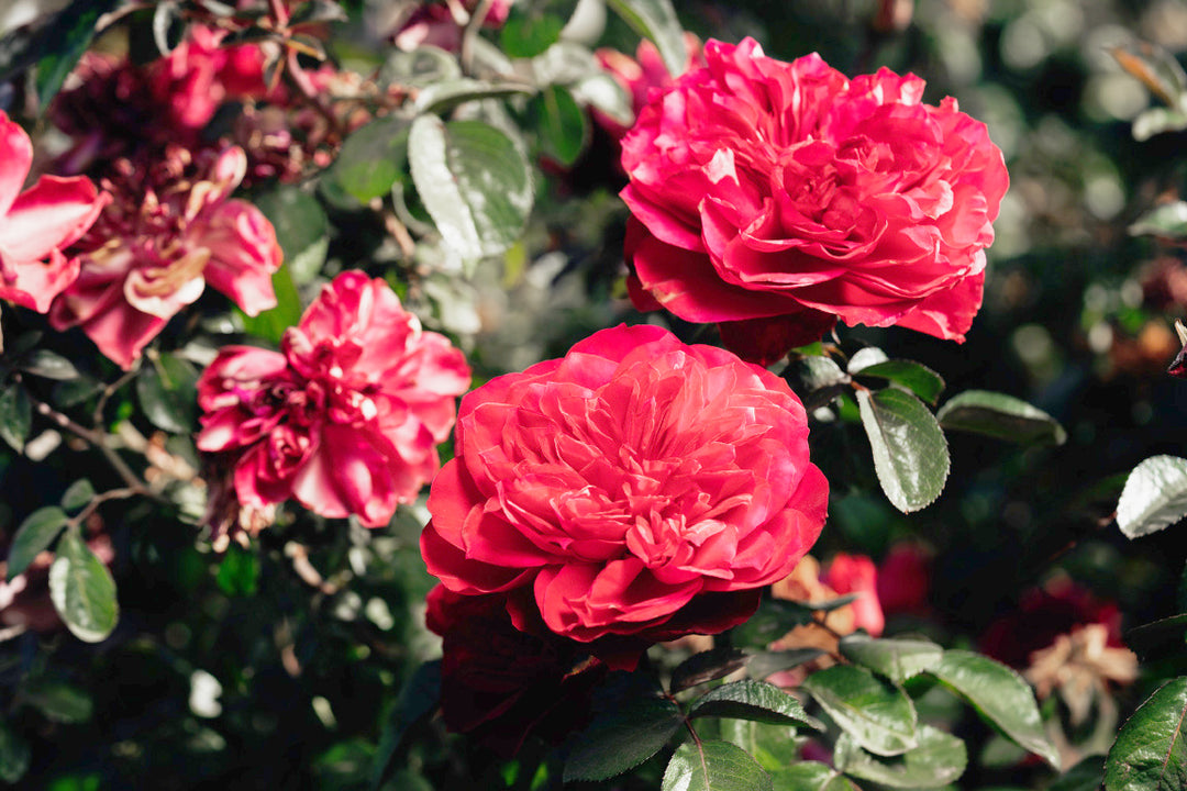
[[1004, 393], [965, 390], [935, 413], [940, 426], [954, 432], [985, 434], [1011, 442], [1062, 445], [1067, 432], [1037, 407]]

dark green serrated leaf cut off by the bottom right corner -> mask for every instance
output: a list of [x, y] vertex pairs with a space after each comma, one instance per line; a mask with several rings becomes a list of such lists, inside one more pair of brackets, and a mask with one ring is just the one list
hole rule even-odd
[[1105, 759], [1105, 791], [1187, 789], [1187, 676], [1172, 678], [1121, 727]]

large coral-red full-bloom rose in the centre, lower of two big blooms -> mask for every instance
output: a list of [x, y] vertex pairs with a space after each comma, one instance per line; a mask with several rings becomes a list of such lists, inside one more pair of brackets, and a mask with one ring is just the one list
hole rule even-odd
[[455, 453], [429, 496], [429, 570], [456, 593], [507, 592], [519, 629], [620, 648], [744, 620], [827, 505], [787, 384], [654, 326], [468, 394]]

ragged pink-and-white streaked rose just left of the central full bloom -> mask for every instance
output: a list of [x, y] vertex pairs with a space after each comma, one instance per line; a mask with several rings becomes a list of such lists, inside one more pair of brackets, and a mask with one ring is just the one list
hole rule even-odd
[[423, 332], [387, 283], [344, 272], [281, 352], [218, 352], [198, 379], [198, 448], [231, 454], [235, 495], [255, 512], [293, 497], [381, 527], [437, 471], [469, 383], [462, 352]]

